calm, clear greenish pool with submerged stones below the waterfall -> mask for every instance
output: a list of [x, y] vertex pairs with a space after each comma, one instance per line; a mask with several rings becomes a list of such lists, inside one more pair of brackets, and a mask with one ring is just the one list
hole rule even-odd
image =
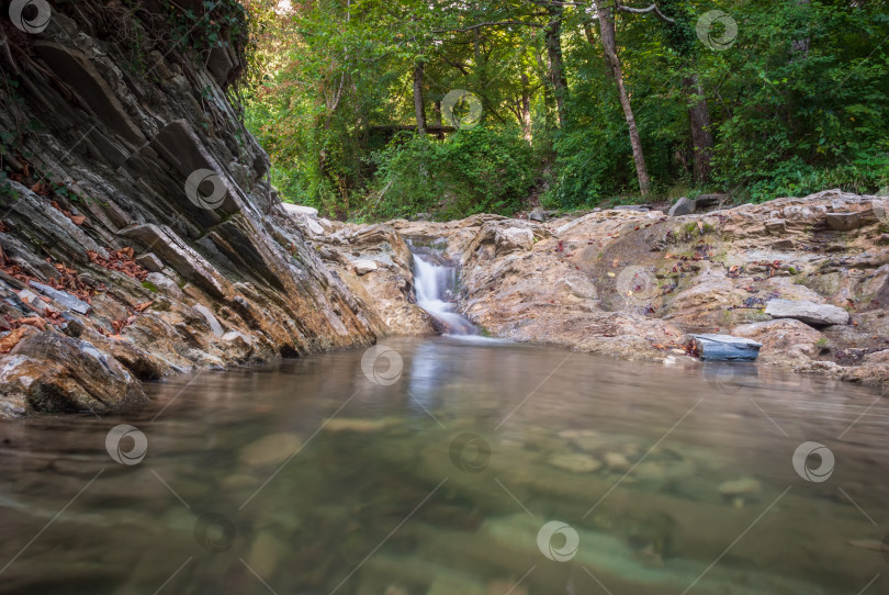
[[[889, 593], [873, 392], [385, 345], [363, 368], [350, 351], [204, 372], [128, 415], [0, 426], [0, 593]], [[140, 461], [132, 430], [109, 450], [121, 424]], [[834, 456], [826, 481], [795, 471], [807, 441]]]

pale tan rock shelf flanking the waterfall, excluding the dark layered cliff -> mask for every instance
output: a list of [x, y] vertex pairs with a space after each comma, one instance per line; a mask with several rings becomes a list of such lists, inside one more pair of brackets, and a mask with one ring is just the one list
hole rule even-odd
[[690, 334], [730, 334], [761, 343], [763, 363], [884, 384], [887, 207], [829, 190], [683, 216], [322, 221], [312, 242], [393, 333], [428, 330], [404, 240], [439, 242], [462, 265], [460, 310], [494, 336], [683, 363]]

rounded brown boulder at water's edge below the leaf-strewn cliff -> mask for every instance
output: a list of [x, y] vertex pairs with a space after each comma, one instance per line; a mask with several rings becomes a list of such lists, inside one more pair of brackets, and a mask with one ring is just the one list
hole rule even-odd
[[91, 343], [46, 332], [24, 338], [0, 359], [0, 416], [109, 412], [145, 402], [138, 381]]

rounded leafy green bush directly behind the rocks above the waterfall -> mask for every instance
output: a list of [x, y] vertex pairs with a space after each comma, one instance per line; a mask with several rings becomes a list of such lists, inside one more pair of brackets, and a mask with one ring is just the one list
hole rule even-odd
[[515, 130], [475, 127], [444, 141], [403, 135], [374, 154], [383, 218], [511, 214], [533, 184], [533, 155]]

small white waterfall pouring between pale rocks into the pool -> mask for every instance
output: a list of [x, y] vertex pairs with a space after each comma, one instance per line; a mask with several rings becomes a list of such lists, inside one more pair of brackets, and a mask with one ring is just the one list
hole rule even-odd
[[431, 248], [410, 247], [417, 305], [441, 323], [447, 335], [477, 335], [479, 328], [455, 312], [458, 270]]

